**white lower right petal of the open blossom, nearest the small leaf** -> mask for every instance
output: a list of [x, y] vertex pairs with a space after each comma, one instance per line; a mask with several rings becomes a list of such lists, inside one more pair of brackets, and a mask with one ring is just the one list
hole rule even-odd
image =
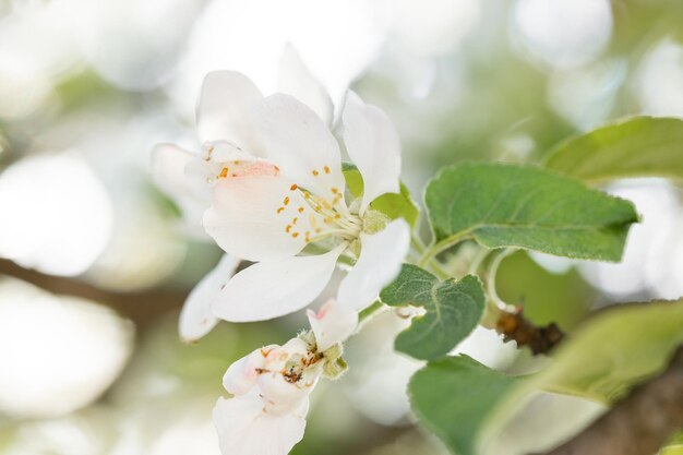
[[339, 285], [338, 302], [347, 308], [363, 309], [374, 301], [384, 286], [400, 272], [410, 248], [410, 227], [398, 218], [374, 235], [360, 235], [358, 262]]

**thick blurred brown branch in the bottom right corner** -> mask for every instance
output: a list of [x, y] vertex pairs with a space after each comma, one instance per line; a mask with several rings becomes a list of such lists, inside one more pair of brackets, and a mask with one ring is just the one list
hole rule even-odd
[[659, 376], [547, 455], [652, 455], [683, 428], [683, 346]]

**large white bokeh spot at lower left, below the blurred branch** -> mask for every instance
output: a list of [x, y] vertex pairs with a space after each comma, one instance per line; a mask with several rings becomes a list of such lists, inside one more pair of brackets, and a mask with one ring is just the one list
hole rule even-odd
[[0, 282], [0, 411], [52, 417], [99, 397], [131, 352], [131, 325], [95, 302]]

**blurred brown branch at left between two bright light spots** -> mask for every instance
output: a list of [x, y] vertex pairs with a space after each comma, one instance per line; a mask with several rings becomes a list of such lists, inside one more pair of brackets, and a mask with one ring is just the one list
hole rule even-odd
[[117, 292], [98, 288], [79, 278], [43, 274], [8, 260], [0, 260], [0, 276], [19, 278], [57, 295], [81, 297], [106, 304], [133, 321], [139, 330], [153, 323], [160, 314], [180, 308], [189, 292], [185, 289], [157, 288]]

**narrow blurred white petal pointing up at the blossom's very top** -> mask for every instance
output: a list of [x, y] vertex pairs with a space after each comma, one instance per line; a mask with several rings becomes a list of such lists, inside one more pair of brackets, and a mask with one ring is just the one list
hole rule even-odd
[[299, 52], [287, 44], [280, 58], [279, 91], [309, 106], [329, 127], [334, 108], [327, 91], [303, 64]]

